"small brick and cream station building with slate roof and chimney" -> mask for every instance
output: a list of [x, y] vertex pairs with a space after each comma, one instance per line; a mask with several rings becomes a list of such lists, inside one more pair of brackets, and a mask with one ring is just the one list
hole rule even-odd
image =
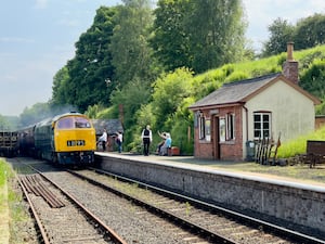
[[224, 84], [190, 106], [194, 113], [194, 156], [243, 160], [258, 140], [282, 141], [315, 128], [321, 101], [299, 87], [294, 44], [283, 72]]

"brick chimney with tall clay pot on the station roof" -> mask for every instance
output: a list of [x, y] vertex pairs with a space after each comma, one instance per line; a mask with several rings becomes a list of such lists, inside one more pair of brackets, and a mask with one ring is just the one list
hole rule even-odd
[[287, 43], [287, 60], [283, 64], [283, 75], [299, 85], [298, 62], [294, 60], [294, 42]]

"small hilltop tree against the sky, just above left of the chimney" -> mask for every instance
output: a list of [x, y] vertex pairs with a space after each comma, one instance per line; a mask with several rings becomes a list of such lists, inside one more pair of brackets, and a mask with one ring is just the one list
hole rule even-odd
[[[286, 50], [287, 42], [292, 40], [295, 27], [287, 21], [276, 18], [270, 26], [270, 39], [263, 44], [262, 56], [282, 53]], [[296, 48], [296, 47], [295, 47]]]

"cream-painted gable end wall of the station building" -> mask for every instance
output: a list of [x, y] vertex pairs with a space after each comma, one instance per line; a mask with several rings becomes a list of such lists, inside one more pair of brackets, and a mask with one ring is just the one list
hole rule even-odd
[[[286, 82], [280, 80], [250, 99], [248, 108], [248, 140], [253, 139], [253, 112], [272, 113], [272, 134], [277, 140], [286, 141], [314, 130], [315, 108], [313, 101]], [[243, 128], [246, 128], [246, 112], [243, 111]], [[245, 131], [245, 130], [244, 130]], [[244, 143], [247, 141], [244, 132]]]

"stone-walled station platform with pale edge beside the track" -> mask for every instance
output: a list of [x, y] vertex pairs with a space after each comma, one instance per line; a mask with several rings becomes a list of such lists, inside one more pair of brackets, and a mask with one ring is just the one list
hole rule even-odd
[[[192, 156], [98, 152], [99, 166], [116, 175], [166, 188], [208, 203], [325, 236], [325, 168], [264, 166]], [[291, 167], [291, 168], [290, 168]], [[302, 172], [292, 176], [294, 168]], [[288, 170], [287, 174], [280, 171]], [[311, 171], [313, 170], [313, 171]], [[307, 175], [314, 174], [314, 178]], [[325, 240], [324, 240], [325, 243]]]

